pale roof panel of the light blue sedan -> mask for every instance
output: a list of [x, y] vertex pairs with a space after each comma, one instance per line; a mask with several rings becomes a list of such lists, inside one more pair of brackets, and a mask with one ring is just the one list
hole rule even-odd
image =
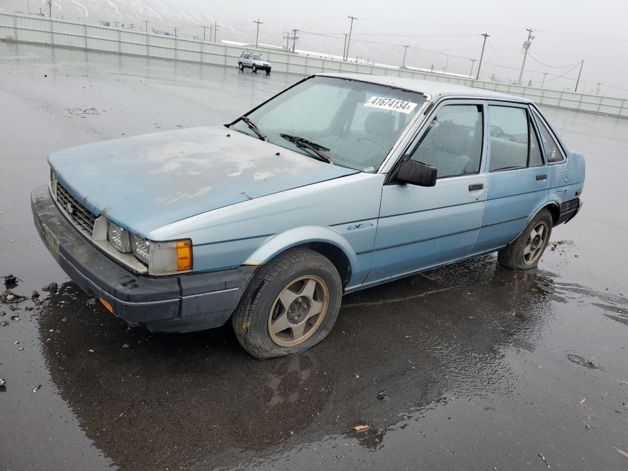
[[369, 84], [396, 87], [421, 94], [429, 94], [431, 97], [456, 96], [477, 97], [483, 99], [506, 99], [514, 102], [531, 103], [531, 100], [514, 95], [507, 95], [493, 90], [477, 89], [465, 85], [448, 84], [447, 82], [435, 82], [432, 80], [420, 80], [409, 77], [390, 77], [387, 75], [372, 75], [369, 73], [317, 73], [320, 77], [347, 78], [368, 82]]

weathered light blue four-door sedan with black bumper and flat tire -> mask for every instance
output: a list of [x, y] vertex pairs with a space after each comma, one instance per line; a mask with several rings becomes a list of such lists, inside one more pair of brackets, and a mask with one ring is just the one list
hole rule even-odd
[[494, 251], [535, 268], [585, 180], [529, 100], [374, 75], [48, 160], [35, 224], [80, 288], [153, 331], [231, 320], [259, 359], [318, 344], [350, 291]]

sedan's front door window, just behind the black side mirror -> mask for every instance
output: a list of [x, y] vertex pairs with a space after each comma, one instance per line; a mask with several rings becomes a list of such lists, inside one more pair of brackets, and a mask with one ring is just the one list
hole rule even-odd
[[438, 178], [478, 173], [483, 127], [481, 105], [443, 106], [411, 160], [435, 167]]

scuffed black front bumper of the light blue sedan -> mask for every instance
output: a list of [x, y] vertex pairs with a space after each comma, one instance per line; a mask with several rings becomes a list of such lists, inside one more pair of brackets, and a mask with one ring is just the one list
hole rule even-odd
[[31, 208], [41, 240], [85, 293], [104, 299], [113, 313], [158, 332], [192, 332], [223, 325], [257, 267], [211, 273], [146, 276], [100, 251], [65, 219], [48, 187], [35, 188]]

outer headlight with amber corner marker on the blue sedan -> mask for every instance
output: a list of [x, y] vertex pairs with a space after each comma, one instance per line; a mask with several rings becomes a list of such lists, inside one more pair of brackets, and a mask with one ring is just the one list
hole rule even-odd
[[178, 273], [192, 269], [192, 241], [149, 242], [133, 234], [133, 253], [148, 265], [153, 275]]

